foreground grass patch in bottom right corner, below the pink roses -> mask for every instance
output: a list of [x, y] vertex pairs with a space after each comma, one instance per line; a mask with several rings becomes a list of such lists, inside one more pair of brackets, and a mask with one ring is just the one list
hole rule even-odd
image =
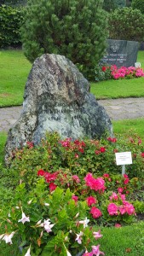
[[144, 222], [122, 228], [103, 228], [99, 240], [106, 256], [144, 255]]

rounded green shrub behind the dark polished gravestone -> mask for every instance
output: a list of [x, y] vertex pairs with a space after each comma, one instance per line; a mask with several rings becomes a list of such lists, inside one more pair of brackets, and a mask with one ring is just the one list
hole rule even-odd
[[138, 42], [144, 39], [144, 15], [138, 9], [115, 9], [108, 24], [109, 38]]

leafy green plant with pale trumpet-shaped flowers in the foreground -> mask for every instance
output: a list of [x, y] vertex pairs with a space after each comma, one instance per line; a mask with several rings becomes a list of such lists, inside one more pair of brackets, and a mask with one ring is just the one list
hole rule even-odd
[[89, 226], [88, 210], [85, 201], [72, 200], [70, 189], [57, 188], [50, 195], [41, 178], [27, 193], [22, 183], [16, 188], [9, 217], [7, 211], [1, 212], [0, 240], [12, 244], [13, 236], [17, 237], [25, 255], [82, 255], [93, 246], [98, 250], [96, 239], [102, 235]]

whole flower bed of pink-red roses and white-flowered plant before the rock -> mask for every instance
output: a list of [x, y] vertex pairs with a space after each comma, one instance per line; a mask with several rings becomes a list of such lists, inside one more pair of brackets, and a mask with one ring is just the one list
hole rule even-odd
[[[134, 165], [127, 169], [129, 176], [124, 177], [114, 162], [114, 153], [122, 149], [131, 149], [134, 158]], [[100, 141], [72, 142], [70, 138], [61, 141], [57, 133], [50, 133], [40, 146], [35, 148], [28, 142], [13, 157], [9, 170], [13, 176], [11, 185], [15, 187], [19, 180], [20, 185], [13, 188], [9, 218], [7, 204], [1, 209], [0, 238], [11, 244], [13, 236], [19, 235], [26, 255], [31, 255], [30, 250], [34, 255], [54, 253], [54, 250], [55, 255], [73, 255], [79, 249], [98, 255], [99, 246], [90, 242], [100, 232], [85, 230], [88, 223], [89, 226], [130, 224], [137, 218], [136, 214], [144, 212], [144, 148], [136, 135], [127, 139], [107, 137]], [[72, 215], [72, 220], [66, 214]], [[81, 224], [86, 226], [79, 229]]]

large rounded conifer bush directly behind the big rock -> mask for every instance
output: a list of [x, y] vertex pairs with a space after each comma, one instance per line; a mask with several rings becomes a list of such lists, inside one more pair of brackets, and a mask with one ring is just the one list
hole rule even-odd
[[43, 53], [65, 55], [87, 78], [94, 78], [107, 39], [107, 15], [101, 5], [101, 0], [30, 0], [21, 27], [28, 60]]

